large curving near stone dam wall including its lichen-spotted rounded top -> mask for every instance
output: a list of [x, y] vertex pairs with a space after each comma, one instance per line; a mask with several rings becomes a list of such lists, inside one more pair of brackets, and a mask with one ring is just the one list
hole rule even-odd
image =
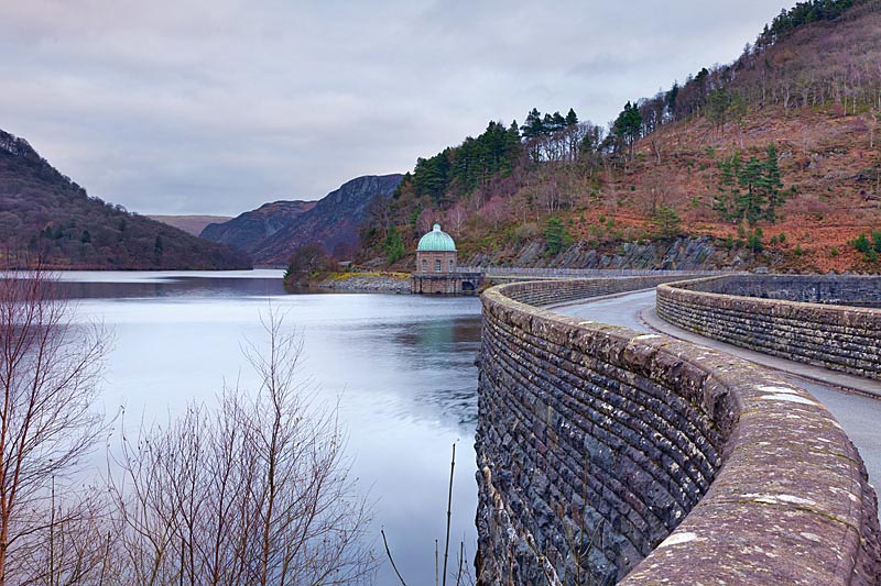
[[875, 494], [822, 405], [726, 354], [534, 305], [562, 286], [482, 296], [481, 584], [879, 583]]

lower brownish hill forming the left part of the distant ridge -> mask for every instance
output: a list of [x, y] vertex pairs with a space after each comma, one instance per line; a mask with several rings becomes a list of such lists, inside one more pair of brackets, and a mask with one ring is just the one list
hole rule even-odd
[[253, 254], [260, 244], [297, 215], [315, 207], [315, 201], [273, 201], [224, 222], [210, 223], [200, 235]]

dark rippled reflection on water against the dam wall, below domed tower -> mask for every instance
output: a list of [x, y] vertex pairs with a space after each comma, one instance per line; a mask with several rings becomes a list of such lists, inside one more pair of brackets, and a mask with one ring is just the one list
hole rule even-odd
[[477, 422], [477, 367], [480, 317], [421, 321], [394, 336], [405, 350], [414, 377], [414, 402], [453, 417], [460, 425]]

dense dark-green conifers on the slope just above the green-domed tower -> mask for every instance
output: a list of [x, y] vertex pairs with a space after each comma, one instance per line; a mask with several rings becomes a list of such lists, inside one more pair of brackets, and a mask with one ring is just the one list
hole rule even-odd
[[428, 196], [434, 204], [440, 204], [450, 188], [467, 194], [498, 174], [510, 173], [520, 153], [516, 122], [508, 128], [490, 122], [477, 139], [469, 136], [459, 146], [418, 158], [413, 174], [404, 176], [399, 189], [410, 184], [417, 197]]

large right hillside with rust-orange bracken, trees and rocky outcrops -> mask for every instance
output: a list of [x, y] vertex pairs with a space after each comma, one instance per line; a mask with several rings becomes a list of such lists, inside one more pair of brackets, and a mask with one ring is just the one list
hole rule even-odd
[[534, 109], [420, 158], [360, 261], [439, 221], [468, 264], [881, 270], [879, 63], [880, 1], [801, 2], [608, 128]]

